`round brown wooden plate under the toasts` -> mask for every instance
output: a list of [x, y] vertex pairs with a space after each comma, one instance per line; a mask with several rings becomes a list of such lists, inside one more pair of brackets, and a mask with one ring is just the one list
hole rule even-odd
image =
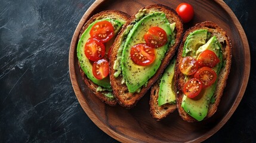
[[[131, 110], [110, 107], [95, 97], [82, 80], [78, 69], [76, 45], [82, 26], [91, 15], [103, 10], [121, 10], [132, 15], [141, 7], [164, 4], [176, 8], [188, 2], [195, 9], [195, 17], [184, 24], [185, 30], [196, 23], [211, 20], [226, 30], [232, 40], [232, 68], [217, 113], [198, 123], [187, 123], [175, 111], [161, 122], [150, 116], [149, 93]], [[101, 130], [121, 142], [201, 142], [217, 132], [238, 107], [246, 89], [250, 71], [249, 45], [238, 18], [221, 0], [218, 1], [129, 1], [98, 0], [87, 10], [76, 27], [70, 45], [69, 71], [73, 89], [84, 111]]]

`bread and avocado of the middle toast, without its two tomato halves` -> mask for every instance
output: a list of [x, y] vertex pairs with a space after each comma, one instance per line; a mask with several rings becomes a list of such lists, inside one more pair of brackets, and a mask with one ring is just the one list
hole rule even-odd
[[[131, 49], [146, 42], [144, 35], [152, 27], [165, 31], [166, 43], [154, 47], [153, 51], [150, 51], [150, 48], [144, 51], [147, 52], [146, 55], [155, 52], [153, 63], [146, 66], [135, 64], [133, 58], [138, 54], [134, 52], [132, 55]], [[110, 54], [110, 81], [113, 94], [120, 105], [126, 108], [134, 107], [146, 94], [175, 54], [182, 33], [183, 23], [180, 17], [174, 10], [164, 5], [149, 5], [129, 18], [116, 38]], [[143, 55], [137, 58], [144, 59]]]

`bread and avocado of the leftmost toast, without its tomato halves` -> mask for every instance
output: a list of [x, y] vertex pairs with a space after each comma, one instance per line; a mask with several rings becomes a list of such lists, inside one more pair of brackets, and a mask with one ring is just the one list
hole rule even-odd
[[[102, 11], [100, 13], [93, 15], [87, 21], [87, 23], [85, 23], [79, 35], [77, 55], [78, 55], [78, 64], [79, 64], [80, 72], [82, 75], [82, 79], [84, 80], [88, 88], [90, 88], [91, 91], [94, 92], [94, 94], [98, 98], [100, 98], [101, 101], [112, 106], [116, 105], [116, 100], [112, 94], [112, 88], [110, 86], [109, 76], [104, 77], [103, 79], [96, 78], [92, 70], [93, 64], [96, 62], [95, 58], [88, 57], [88, 54], [91, 54], [91, 52], [94, 52], [94, 51], [92, 50], [90, 52], [89, 50], [89, 52], [87, 52], [88, 50], [86, 50], [85, 48], [87, 47], [87, 44], [90, 41], [89, 39], [92, 38], [91, 36], [92, 28], [97, 23], [107, 21], [106, 23], [112, 24], [113, 37], [109, 41], [104, 43], [98, 42], [97, 39], [96, 40], [94, 39], [94, 41], [96, 41], [97, 43], [100, 43], [101, 46], [104, 46], [104, 47], [99, 46], [100, 48], [98, 48], [99, 49], [98, 51], [102, 51], [102, 52], [100, 52], [100, 55], [98, 56], [100, 56], [100, 58], [102, 59], [107, 59], [107, 53], [109, 52], [110, 46], [112, 46], [113, 41], [116, 38], [116, 35], [118, 35], [118, 32], [121, 30], [122, 26], [125, 24], [128, 18], [129, 18], [129, 15], [122, 11], [116, 11], [116, 10]], [[103, 48], [104, 48], [104, 51], [103, 51]], [[106, 54], [104, 54], [103, 52]]]

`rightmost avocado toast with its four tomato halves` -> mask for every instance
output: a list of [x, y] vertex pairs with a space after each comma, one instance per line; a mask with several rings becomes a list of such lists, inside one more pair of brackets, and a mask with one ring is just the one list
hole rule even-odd
[[214, 22], [198, 23], [184, 33], [175, 66], [177, 108], [183, 120], [198, 122], [214, 115], [231, 61], [231, 41]]

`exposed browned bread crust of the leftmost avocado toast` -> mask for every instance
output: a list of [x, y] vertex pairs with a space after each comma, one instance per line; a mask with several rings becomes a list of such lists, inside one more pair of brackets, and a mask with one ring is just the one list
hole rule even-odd
[[[112, 19], [118, 19], [122, 21], [127, 21], [130, 16], [122, 11], [117, 11], [117, 10], [107, 10], [107, 11], [101, 11], [100, 13], [97, 13], [93, 15], [87, 23], [84, 24], [82, 27], [82, 30], [80, 32], [79, 38], [81, 38], [82, 33], [85, 32], [88, 26], [90, 26], [91, 23], [93, 23], [95, 20], [100, 20], [103, 18], [112, 18]], [[114, 106], [117, 104], [116, 100], [109, 100], [104, 94], [109, 93], [109, 91], [97, 91], [98, 85], [92, 82], [84, 71], [81, 69], [81, 66], [78, 62], [80, 73], [82, 76], [82, 79], [84, 80], [85, 84], [88, 86], [88, 88], [91, 89], [91, 91], [103, 102], [105, 102], [108, 105]]]

